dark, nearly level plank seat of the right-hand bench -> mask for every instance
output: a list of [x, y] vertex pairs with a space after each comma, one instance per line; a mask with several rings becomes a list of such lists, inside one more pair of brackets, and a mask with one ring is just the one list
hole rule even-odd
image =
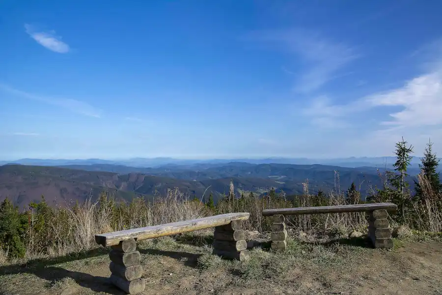
[[342, 206], [265, 209], [262, 211], [262, 215], [272, 216], [276, 214], [300, 215], [300, 214], [321, 214], [321, 213], [364, 212], [364, 211], [374, 211], [379, 209], [384, 209], [387, 211], [395, 211], [397, 210], [397, 205], [393, 203], [375, 203], [375, 204], [358, 204], [358, 205], [342, 205]]

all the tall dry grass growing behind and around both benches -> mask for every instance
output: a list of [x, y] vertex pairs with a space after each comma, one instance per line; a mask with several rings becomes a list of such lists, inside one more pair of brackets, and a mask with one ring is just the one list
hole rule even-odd
[[[425, 177], [419, 176], [419, 182], [424, 194], [424, 203], [414, 205], [416, 214], [413, 218], [417, 218], [417, 221], [414, 220], [414, 226], [417, 224], [417, 229], [420, 231], [439, 233], [442, 230], [442, 212], [439, 210], [442, 208], [441, 196], [431, 190]], [[339, 189], [330, 191], [325, 202], [321, 205], [348, 204]], [[40, 237], [40, 240], [49, 241], [49, 244], [46, 247], [41, 247], [38, 242], [34, 242], [35, 233], [31, 228], [29, 233], [31, 238], [28, 241], [25, 259], [7, 261], [5, 253], [0, 252], [0, 265], [85, 252], [98, 247], [94, 235], [104, 232], [165, 224], [228, 212], [249, 212], [250, 218], [245, 223], [246, 229], [258, 231], [261, 236], [265, 236], [270, 230], [270, 219], [262, 216], [262, 210], [293, 206], [318, 206], [317, 197], [308, 192], [308, 182], [304, 183], [304, 195], [297, 199], [296, 204], [286, 200], [285, 197], [273, 200], [257, 197], [239, 199], [231, 192], [230, 198], [218, 204], [216, 210], [210, 210], [204, 204], [190, 200], [178, 189], [168, 190], [165, 196], [157, 196], [153, 202], [137, 198], [129, 205], [118, 205], [113, 197], [104, 194], [99, 202], [93, 203], [88, 199], [76, 207], [53, 209], [52, 215], [45, 221], [47, 224], [45, 236]], [[405, 235], [402, 231], [405, 228], [404, 225], [393, 221], [391, 224], [398, 235]], [[367, 230], [367, 221], [363, 212], [288, 216], [287, 225], [292, 236], [302, 235], [301, 239], [307, 242], [349, 237], [353, 231], [364, 233]], [[415, 229], [412, 227], [412, 230]], [[192, 240], [195, 245], [201, 246], [204, 243], [210, 244], [207, 237], [211, 235], [212, 232], [209, 230], [189, 233], [177, 238]], [[327, 250], [319, 247], [315, 251], [322, 251], [317, 253], [317, 257], [324, 257], [324, 251]]]

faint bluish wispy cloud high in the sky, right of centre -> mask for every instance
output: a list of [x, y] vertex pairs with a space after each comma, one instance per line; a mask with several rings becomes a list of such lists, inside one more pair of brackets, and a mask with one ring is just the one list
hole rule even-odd
[[304, 93], [340, 77], [338, 71], [359, 57], [354, 48], [344, 43], [301, 29], [253, 32], [247, 39], [274, 43], [294, 59], [300, 59], [304, 70], [296, 73], [295, 90]]

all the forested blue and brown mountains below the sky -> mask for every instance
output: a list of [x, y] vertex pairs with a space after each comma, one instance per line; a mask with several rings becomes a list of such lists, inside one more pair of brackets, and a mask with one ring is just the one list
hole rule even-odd
[[[207, 198], [212, 192], [217, 201], [223, 193], [228, 193], [230, 180], [234, 182], [236, 193], [253, 191], [262, 195], [275, 187], [276, 192], [283, 190], [287, 195], [294, 195], [303, 192], [303, 182], [307, 179], [312, 193], [319, 189], [345, 191], [355, 182], [364, 197], [370, 187], [382, 184], [376, 168], [369, 166], [190, 162], [143, 168], [93, 163], [102, 160], [74, 160], [76, 164], [71, 160], [50, 160], [52, 164], [70, 163], [54, 167], [29, 165], [33, 161], [37, 160], [0, 166], [0, 201], [7, 197], [24, 207], [44, 195], [50, 204], [63, 206], [69, 202], [83, 202], [88, 196], [95, 200], [103, 190], [115, 193], [121, 200], [140, 195], [152, 199], [157, 193], [164, 195], [167, 189], [175, 187], [192, 198], [202, 198], [204, 192]], [[410, 175], [418, 173], [418, 169], [414, 170], [409, 171]], [[408, 179], [411, 184], [413, 178]]]

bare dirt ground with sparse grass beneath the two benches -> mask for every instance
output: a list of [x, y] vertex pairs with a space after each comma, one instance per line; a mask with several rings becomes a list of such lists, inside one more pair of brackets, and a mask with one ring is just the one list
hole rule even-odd
[[[372, 249], [365, 238], [322, 243], [291, 238], [283, 253], [254, 248], [247, 263], [211, 255], [213, 236], [170, 237], [140, 244], [144, 295], [436, 295], [442, 294], [442, 243], [395, 240]], [[264, 248], [268, 243], [263, 243]], [[1, 266], [5, 295], [124, 294], [108, 283], [104, 249]]]

